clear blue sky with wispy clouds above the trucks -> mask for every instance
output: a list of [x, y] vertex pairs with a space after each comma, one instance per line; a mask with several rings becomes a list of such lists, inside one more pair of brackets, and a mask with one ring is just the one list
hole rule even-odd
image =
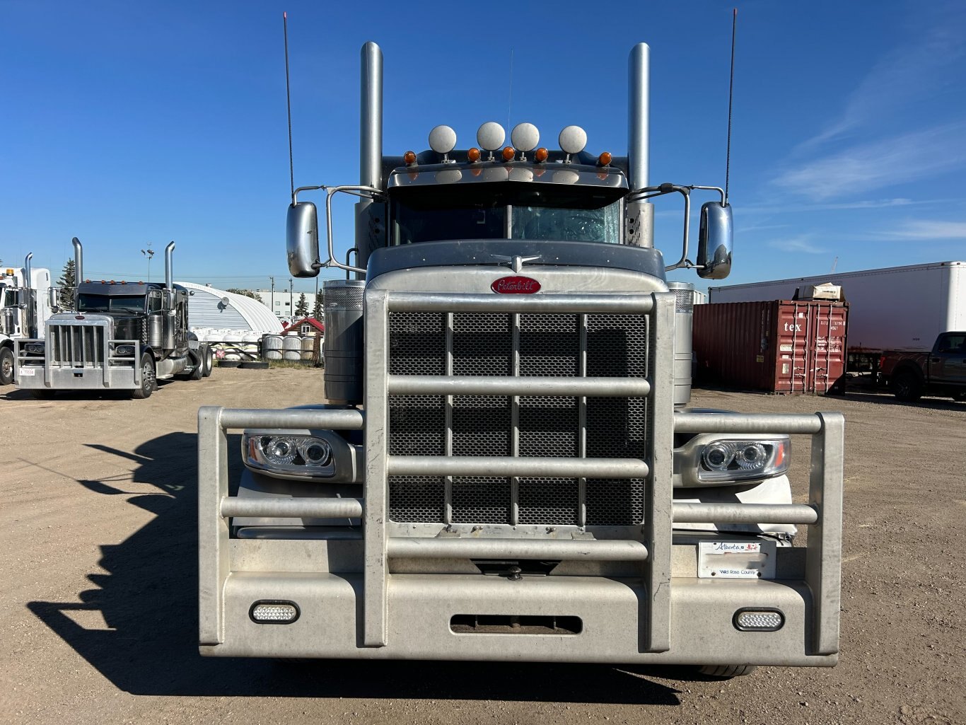
[[[732, 7], [0, 0], [0, 259], [59, 274], [77, 236], [87, 276], [144, 278], [140, 250], [159, 276], [174, 240], [178, 279], [288, 287], [283, 10], [297, 186], [357, 183], [367, 40], [393, 154], [509, 119], [548, 145], [579, 124], [588, 151], [623, 155], [627, 56], [649, 43], [651, 182], [722, 186]], [[966, 6], [736, 7], [735, 263], [715, 284], [966, 259]], [[670, 261], [680, 232], [660, 203]]]

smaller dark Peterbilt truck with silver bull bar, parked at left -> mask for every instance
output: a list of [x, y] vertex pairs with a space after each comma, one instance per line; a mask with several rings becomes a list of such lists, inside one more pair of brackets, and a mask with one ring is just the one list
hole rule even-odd
[[[83, 246], [76, 237], [72, 243], [81, 280]], [[128, 390], [147, 398], [158, 380], [211, 375], [211, 348], [188, 331], [188, 291], [172, 281], [174, 248], [164, 249], [163, 283], [80, 281], [74, 311], [51, 315], [45, 339], [16, 342], [16, 385], [39, 397]]]

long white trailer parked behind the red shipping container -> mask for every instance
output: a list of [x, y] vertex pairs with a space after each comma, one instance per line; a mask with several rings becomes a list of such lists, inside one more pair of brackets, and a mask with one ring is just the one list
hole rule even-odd
[[849, 304], [848, 352], [926, 351], [936, 335], [966, 330], [966, 262], [803, 276], [710, 287], [714, 303], [791, 300], [801, 287], [831, 282]]

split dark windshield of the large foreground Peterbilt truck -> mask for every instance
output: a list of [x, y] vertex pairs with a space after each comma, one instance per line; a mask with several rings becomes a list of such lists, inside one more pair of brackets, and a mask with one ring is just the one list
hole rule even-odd
[[393, 205], [392, 244], [447, 239], [620, 243], [620, 202], [598, 209], [501, 205], [427, 209]]

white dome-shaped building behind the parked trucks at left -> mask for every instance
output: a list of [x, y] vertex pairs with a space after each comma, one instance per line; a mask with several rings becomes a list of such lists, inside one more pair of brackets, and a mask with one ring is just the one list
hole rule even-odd
[[204, 284], [178, 282], [190, 293], [187, 319], [191, 332], [200, 340], [233, 339], [238, 335], [281, 333], [282, 324], [258, 300]]

